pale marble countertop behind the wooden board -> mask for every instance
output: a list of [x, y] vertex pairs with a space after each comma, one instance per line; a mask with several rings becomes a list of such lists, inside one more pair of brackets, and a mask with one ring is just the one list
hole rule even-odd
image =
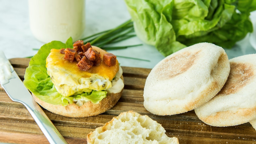
[[[33, 56], [44, 43], [32, 35], [29, 27], [29, 10], [27, 0], [0, 0], [0, 50], [7, 59]], [[256, 12], [251, 13], [251, 20], [256, 22]], [[110, 28], [115, 28], [130, 19], [126, 5], [122, 0], [86, 0], [86, 29], [84, 36]], [[250, 34], [237, 42], [232, 49], [225, 49], [229, 59], [256, 53], [249, 42]], [[255, 39], [256, 41], [256, 39]], [[137, 37], [128, 39], [118, 45], [142, 44]], [[153, 46], [143, 44], [122, 50], [109, 51], [115, 55], [130, 56], [148, 61], [119, 57], [121, 66], [153, 68], [164, 56]]]

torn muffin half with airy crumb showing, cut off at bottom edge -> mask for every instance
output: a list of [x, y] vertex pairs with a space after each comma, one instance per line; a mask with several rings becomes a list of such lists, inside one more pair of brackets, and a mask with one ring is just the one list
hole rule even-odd
[[178, 144], [177, 137], [168, 137], [165, 129], [147, 115], [128, 111], [114, 117], [104, 126], [87, 135], [88, 144], [96, 143], [152, 143]]

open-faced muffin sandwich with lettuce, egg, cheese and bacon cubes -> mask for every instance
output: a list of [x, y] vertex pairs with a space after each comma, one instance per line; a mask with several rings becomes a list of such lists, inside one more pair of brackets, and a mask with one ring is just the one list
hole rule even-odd
[[116, 56], [84, 44], [52, 41], [32, 57], [24, 85], [50, 112], [68, 117], [95, 116], [111, 109], [123, 92]]

